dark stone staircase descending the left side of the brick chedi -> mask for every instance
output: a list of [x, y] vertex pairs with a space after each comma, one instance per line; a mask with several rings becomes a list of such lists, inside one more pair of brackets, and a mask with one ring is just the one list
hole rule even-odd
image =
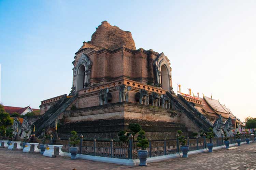
[[[63, 113], [67, 107], [77, 98], [78, 94], [75, 94], [71, 98], [66, 96], [62, 97], [55, 105], [48, 109], [37, 121], [33, 123], [35, 125], [35, 136], [40, 136], [43, 129], [47, 129], [50, 124], [55, 122], [56, 118]], [[32, 126], [33, 126], [32, 125]]]

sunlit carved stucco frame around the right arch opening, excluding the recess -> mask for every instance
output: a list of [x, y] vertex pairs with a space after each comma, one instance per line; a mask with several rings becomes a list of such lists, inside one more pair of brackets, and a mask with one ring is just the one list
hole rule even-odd
[[168, 71], [168, 86], [170, 87], [170, 79], [171, 79], [171, 67], [170, 67], [170, 63], [169, 63], [169, 60], [168, 58], [165, 56], [165, 54], [162, 52], [158, 55], [158, 57], [155, 59], [154, 61], [154, 72], [155, 72], [155, 75], [156, 75], [156, 82], [158, 84], [162, 84], [161, 82], [161, 67], [162, 65], [165, 65], [166, 66], [166, 69]]

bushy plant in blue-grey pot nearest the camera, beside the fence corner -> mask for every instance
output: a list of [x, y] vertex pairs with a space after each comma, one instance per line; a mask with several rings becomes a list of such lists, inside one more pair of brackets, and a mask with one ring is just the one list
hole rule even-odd
[[141, 148], [142, 150], [138, 150], [138, 157], [140, 159], [140, 166], [146, 166], [147, 165], [147, 155], [148, 155], [148, 141], [145, 137], [145, 131], [141, 130], [139, 132], [139, 135], [137, 137], [137, 147]]

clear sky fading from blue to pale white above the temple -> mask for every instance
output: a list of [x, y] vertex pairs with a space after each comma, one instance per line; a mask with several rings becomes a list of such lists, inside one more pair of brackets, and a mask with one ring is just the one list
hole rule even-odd
[[69, 94], [75, 52], [102, 21], [168, 56], [173, 88], [256, 117], [256, 1], [0, 0], [1, 102], [39, 108]]

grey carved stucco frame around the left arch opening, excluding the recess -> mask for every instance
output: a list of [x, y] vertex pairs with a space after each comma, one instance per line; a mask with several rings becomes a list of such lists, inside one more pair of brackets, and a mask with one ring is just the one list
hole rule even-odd
[[92, 62], [90, 61], [90, 59], [84, 54], [82, 53], [81, 57], [79, 58], [77, 64], [75, 65], [75, 67], [73, 68], [73, 77], [74, 77], [74, 86], [71, 88], [71, 94], [73, 94], [75, 92], [76, 86], [77, 86], [77, 74], [79, 71], [79, 67], [81, 65], [84, 65], [85, 67], [85, 78], [84, 78], [84, 87], [87, 87], [90, 85], [90, 76], [91, 76], [91, 66], [92, 66]]

